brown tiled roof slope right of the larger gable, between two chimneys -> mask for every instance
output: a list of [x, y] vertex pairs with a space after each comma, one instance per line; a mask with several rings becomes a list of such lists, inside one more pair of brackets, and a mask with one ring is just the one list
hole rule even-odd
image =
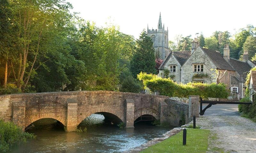
[[223, 70], [231, 70], [235, 71], [229, 64], [228, 62], [222, 57], [220, 52], [202, 48], [200, 47], [207, 55], [208, 57], [212, 60], [213, 64], [217, 67], [217, 69], [223, 69]]

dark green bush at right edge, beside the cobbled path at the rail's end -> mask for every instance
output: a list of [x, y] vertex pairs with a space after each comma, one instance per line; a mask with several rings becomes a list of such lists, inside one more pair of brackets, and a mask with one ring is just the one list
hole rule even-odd
[[[256, 95], [254, 96], [256, 98]], [[255, 99], [254, 99], [255, 101]], [[240, 100], [240, 102], [251, 102], [249, 97], [245, 97]], [[244, 117], [252, 119], [256, 122], [256, 102], [253, 102], [252, 105], [238, 105], [238, 110]]]

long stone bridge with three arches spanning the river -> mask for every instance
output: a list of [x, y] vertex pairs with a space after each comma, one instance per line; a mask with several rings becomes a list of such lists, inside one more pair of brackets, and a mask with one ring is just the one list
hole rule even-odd
[[172, 101], [167, 96], [114, 91], [74, 91], [0, 96], [0, 118], [25, 129], [31, 123], [53, 118], [74, 131], [93, 113], [112, 122], [124, 122], [132, 128], [142, 115], [152, 115], [161, 124], [179, 126], [188, 122], [188, 104]]

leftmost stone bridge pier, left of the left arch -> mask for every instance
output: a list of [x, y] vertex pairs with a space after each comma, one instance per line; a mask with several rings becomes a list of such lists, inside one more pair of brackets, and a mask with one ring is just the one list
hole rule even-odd
[[25, 131], [26, 102], [12, 101], [12, 122]]

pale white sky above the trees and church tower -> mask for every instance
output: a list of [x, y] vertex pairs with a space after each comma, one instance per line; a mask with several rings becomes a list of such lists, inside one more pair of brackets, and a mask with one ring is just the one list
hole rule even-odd
[[235, 34], [247, 24], [256, 26], [256, 1], [229, 0], [67, 0], [73, 4], [72, 11], [93, 21], [99, 27], [111, 22], [120, 31], [139, 38], [143, 29], [157, 29], [159, 13], [162, 24], [169, 30], [169, 40], [176, 35], [192, 35], [202, 32], [210, 37], [214, 31]]

